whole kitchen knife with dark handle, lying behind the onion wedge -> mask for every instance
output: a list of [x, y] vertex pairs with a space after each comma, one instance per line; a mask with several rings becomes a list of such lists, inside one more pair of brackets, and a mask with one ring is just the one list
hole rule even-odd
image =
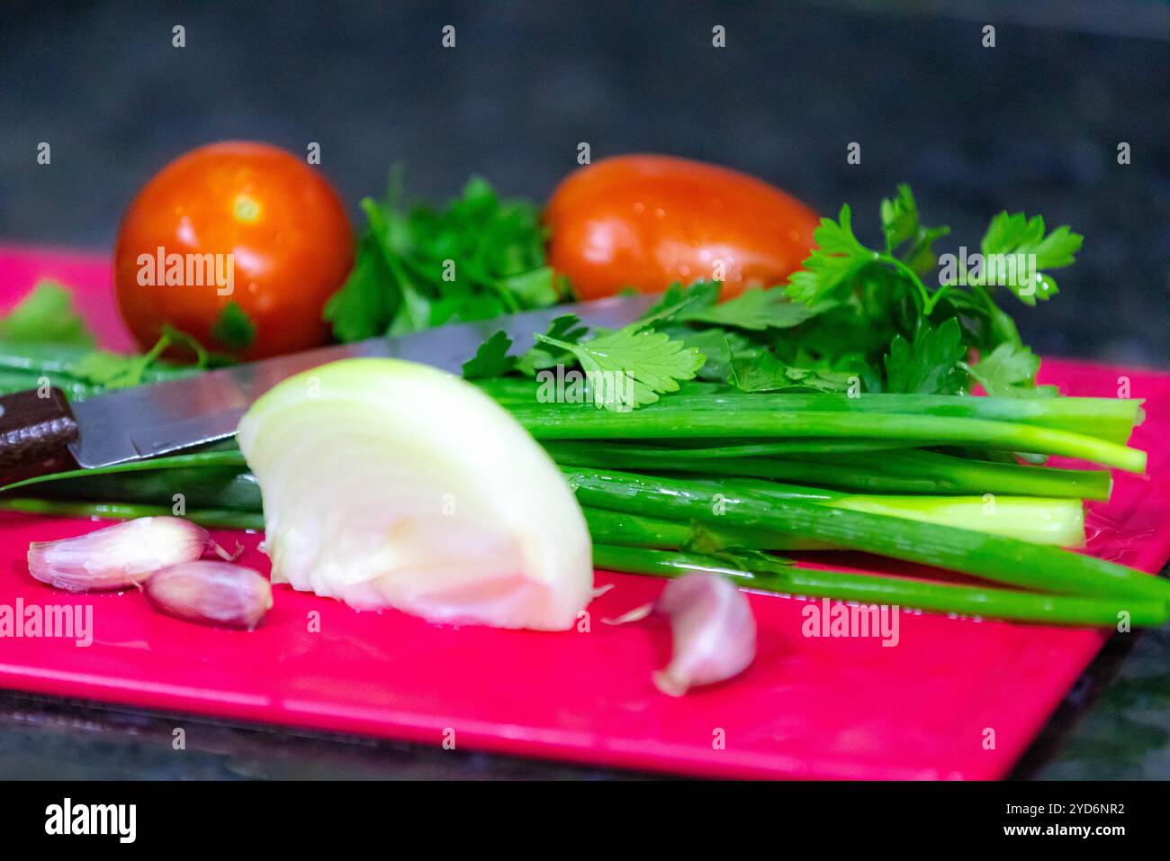
[[[574, 314], [591, 327], [636, 320], [658, 296], [612, 296], [579, 305], [455, 323], [398, 337], [374, 337], [238, 364], [153, 385], [119, 389], [69, 404], [53, 388], [0, 397], [0, 485], [76, 466], [139, 460], [235, 433], [248, 406], [282, 380], [310, 368], [360, 356], [405, 358], [460, 373], [493, 333], [512, 340], [512, 353], [535, 343], [553, 319]], [[51, 382], [51, 381], [50, 381]]]

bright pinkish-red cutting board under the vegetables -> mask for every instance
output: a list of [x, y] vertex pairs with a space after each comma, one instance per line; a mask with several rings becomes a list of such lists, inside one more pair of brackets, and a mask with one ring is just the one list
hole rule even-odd
[[[0, 306], [37, 276], [73, 286], [106, 343], [129, 346], [104, 258], [0, 247]], [[1069, 395], [1113, 396], [1128, 377], [1130, 395], [1147, 399], [1134, 444], [1150, 452], [1150, 478], [1119, 476], [1113, 500], [1090, 506], [1089, 552], [1158, 570], [1170, 559], [1170, 376], [1044, 367], [1045, 381]], [[804, 600], [752, 595], [755, 664], [732, 683], [673, 699], [651, 684], [669, 651], [667, 629], [600, 622], [651, 600], [661, 583], [649, 578], [599, 572], [598, 583], [614, 588], [591, 604], [587, 631], [443, 628], [278, 587], [263, 628], [243, 634], [158, 615], [135, 592], [71, 596], [29, 576], [29, 541], [98, 525], [0, 514], [0, 609], [92, 608], [88, 647], [0, 638], [0, 686], [689, 774], [997, 778], [1104, 642], [1094, 630], [904, 609], [894, 647], [806, 638]], [[242, 540], [243, 561], [267, 570], [257, 535], [219, 538]]]

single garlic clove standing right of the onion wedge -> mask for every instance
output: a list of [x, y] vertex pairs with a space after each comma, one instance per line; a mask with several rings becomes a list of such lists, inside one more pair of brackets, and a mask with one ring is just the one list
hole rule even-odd
[[654, 685], [672, 697], [731, 678], [756, 657], [756, 617], [748, 596], [717, 574], [695, 572], [672, 580], [654, 603], [670, 620], [670, 663]]

